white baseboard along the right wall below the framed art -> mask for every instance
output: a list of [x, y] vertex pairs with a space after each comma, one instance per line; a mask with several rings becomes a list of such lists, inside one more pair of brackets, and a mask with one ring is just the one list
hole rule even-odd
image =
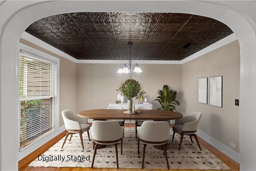
[[224, 145], [223, 143], [221, 143], [220, 141], [214, 139], [213, 137], [211, 137], [210, 135], [204, 133], [203, 131], [201, 131], [200, 129], [197, 129], [196, 134], [201, 137], [202, 139], [204, 139], [204, 141], [210, 143], [212, 146], [214, 146], [215, 148], [217, 148], [218, 150], [220, 150], [222, 153], [226, 154], [228, 157], [230, 157], [231, 159], [233, 159], [234, 161], [236, 161], [237, 163], [239, 163], [239, 158], [240, 158], [240, 154], [236, 151], [234, 151], [233, 149], [231, 149], [230, 147]]

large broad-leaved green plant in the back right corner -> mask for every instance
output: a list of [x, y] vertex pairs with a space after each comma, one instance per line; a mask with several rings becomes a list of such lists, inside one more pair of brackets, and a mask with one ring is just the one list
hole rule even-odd
[[176, 105], [180, 105], [180, 102], [176, 100], [177, 92], [173, 90], [169, 90], [168, 85], [164, 85], [162, 90], [158, 90], [158, 97], [156, 97], [155, 101], [159, 101], [161, 104], [161, 108], [158, 110], [170, 110], [177, 111]]

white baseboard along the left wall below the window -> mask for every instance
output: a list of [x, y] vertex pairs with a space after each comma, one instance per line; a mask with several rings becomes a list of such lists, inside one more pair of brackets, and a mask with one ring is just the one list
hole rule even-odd
[[18, 153], [18, 161], [20, 161], [21, 159], [23, 159], [24, 157], [26, 157], [27, 155], [29, 155], [30, 153], [32, 153], [33, 151], [35, 151], [36, 149], [38, 149], [39, 147], [41, 147], [42, 145], [44, 145], [45, 143], [47, 143], [48, 141], [50, 141], [51, 139], [53, 139], [54, 137], [56, 137], [65, 130], [65, 125], [62, 125], [61, 127], [59, 127], [58, 130], [49, 134], [47, 137], [42, 137], [42, 139], [39, 138], [38, 141], [34, 141], [30, 145], [24, 147], [22, 151]]

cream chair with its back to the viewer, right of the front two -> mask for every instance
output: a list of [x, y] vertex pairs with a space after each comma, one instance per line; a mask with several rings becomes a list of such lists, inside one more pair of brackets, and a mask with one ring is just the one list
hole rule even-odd
[[144, 121], [138, 130], [138, 155], [140, 154], [140, 141], [144, 143], [142, 169], [144, 168], [144, 158], [146, 145], [161, 145], [169, 169], [167, 156], [167, 141], [169, 139], [170, 125], [167, 121]]

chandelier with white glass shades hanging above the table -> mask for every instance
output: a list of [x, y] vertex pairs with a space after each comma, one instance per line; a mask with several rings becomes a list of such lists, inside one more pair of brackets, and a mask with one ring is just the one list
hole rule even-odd
[[[129, 64], [125, 63], [125, 64], [121, 64], [120, 68], [118, 69], [117, 73], [128, 73], [130, 77], [132, 77], [132, 73], [133, 72], [142, 72], [142, 70], [140, 69], [139, 65], [137, 63], [134, 63], [133, 65], [131, 64], [132, 60], [131, 60], [131, 45], [132, 42], [128, 42], [127, 43], [130, 46], [130, 56], [129, 56]], [[122, 66], [124, 66], [122, 68]]]

